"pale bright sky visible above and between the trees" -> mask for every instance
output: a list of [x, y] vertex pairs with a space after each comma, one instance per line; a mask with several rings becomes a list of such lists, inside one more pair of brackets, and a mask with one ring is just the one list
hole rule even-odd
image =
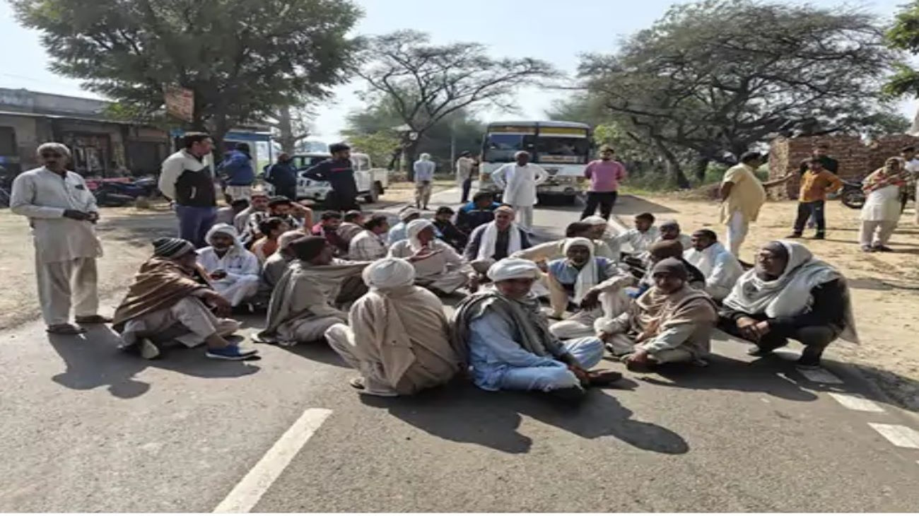
[[[500, 57], [533, 57], [573, 73], [578, 55], [610, 52], [618, 41], [649, 27], [669, 6], [687, 0], [580, 0], [567, 4], [559, 0], [356, 0], [364, 17], [356, 34], [376, 35], [402, 28], [431, 34], [437, 44], [478, 41], [489, 53]], [[789, 3], [840, 6], [838, 0], [789, 0]], [[890, 19], [906, 0], [848, 2], [880, 17]], [[523, 8], [522, 8], [523, 7]], [[570, 9], [568, 7], [571, 7]], [[39, 33], [21, 28], [6, 2], [0, 0], [0, 87], [28, 88], [61, 95], [96, 96], [80, 88], [78, 81], [48, 70], [48, 53]], [[335, 99], [323, 103], [314, 121], [314, 138], [331, 142], [339, 139], [348, 112], [362, 103], [356, 93], [363, 84], [353, 82], [335, 88]], [[482, 118], [544, 118], [544, 112], [558, 92], [524, 89], [517, 95], [517, 113], [482, 113]], [[903, 102], [903, 113], [913, 118], [914, 102]]]

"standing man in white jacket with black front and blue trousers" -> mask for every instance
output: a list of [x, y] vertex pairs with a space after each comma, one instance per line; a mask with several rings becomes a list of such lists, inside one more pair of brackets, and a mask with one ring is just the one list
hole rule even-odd
[[179, 238], [204, 247], [204, 235], [217, 219], [214, 176], [208, 163], [214, 142], [203, 132], [187, 132], [182, 145], [163, 162], [159, 187], [175, 202]]

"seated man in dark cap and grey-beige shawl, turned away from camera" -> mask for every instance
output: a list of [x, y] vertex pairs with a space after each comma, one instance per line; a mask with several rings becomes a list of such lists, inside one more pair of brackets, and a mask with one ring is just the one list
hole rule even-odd
[[290, 252], [296, 260], [275, 286], [266, 328], [257, 335], [260, 341], [280, 345], [318, 341], [333, 324], [347, 322], [342, 304], [359, 297], [346, 299], [341, 294], [348, 280], [360, 281], [366, 262], [334, 258], [332, 246], [317, 236], [291, 242]]

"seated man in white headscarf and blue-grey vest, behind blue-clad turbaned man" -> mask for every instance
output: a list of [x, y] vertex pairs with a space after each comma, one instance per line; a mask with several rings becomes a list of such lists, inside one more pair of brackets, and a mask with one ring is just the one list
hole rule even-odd
[[552, 324], [550, 331], [560, 339], [590, 337], [594, 322], [614, 318], [629, 308], [624, 288], [634, 283], [628, 269], [594, 255], [594, 242], [585, 238], [567, 239], [565, 257], [549, 264], [549, 290], [552, 312], [560, 318], [569, 306], [572, 317]]

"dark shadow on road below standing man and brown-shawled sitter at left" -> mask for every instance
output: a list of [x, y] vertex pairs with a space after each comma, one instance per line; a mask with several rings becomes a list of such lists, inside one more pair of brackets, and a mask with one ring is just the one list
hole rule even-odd
[[169, 348], [161, 360], [147, 361], [119, 351], [119, 336], [108, 326], [88, 326], [83, 335], [49, 335], [48, 340], [66, 365], [51, 379], [63, 387], [89, 390], [108, 386], [117, 398], [137, 398], [150, 384], [134, 378], [147, 367], [176, 371], [202, 378], [233, 378], [252, 375], [259, 367], [244, 362], [221, 362], [204, 357], [203, 348]]

